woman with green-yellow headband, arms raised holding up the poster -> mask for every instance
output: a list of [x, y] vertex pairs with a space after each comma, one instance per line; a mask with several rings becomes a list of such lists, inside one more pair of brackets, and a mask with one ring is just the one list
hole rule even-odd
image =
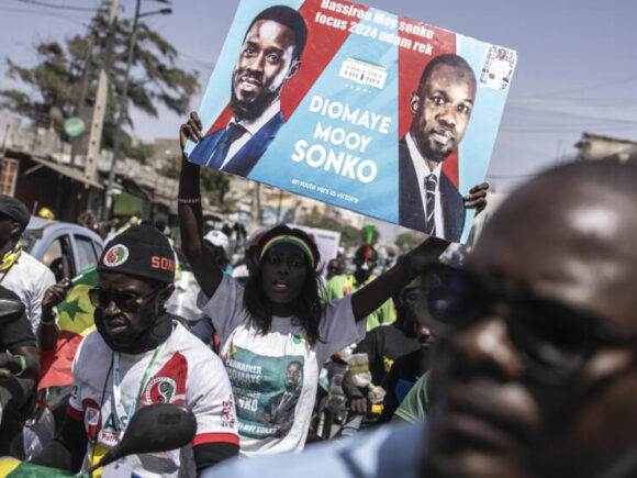
[[[195, 113], [180, 129], [181, 147], [202, 138]], [[258, 243], [245, 287], [224, 275], [203, 245], [199, 166], [183, 156], [179, 179], [182, 249], [203, 293], [202, 308], [221, 338], [244, 455], [300, 451], [305, 444], [318, 371], [332, 354], [365, 336], [366, 318], [448, 242], [429, 238], [358, 292], [321, 303], [320, 254], [304, 232], [283, 225]]]

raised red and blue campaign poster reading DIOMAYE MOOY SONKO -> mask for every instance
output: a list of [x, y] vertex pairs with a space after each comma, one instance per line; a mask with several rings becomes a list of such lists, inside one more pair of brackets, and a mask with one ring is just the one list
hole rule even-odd
[[517, 54], [332, 0], [243, 0], [192, 163], [454, 242]]

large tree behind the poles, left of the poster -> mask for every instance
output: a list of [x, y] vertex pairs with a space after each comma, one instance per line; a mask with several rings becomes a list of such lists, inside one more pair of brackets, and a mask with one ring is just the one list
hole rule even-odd
[[[127, 96], [123, 98], [132, 22], [122, 20], [112, 29], [113, 52], [110, 65], [109, 100], [104, 118], [102, 147], [112, 147], [120, 101], [126, 101], [145, 113], [157, 116], [158, 104], [178, 114], [189, 110], [190, 97], [198, 90], [195, 71], [176, 67], [178, 53], [161, 35], [139, 22]], [[7, 58], [8, 76], [24, 84], [24, 89], [0, 90], [0, 108], [27, 118], [37, 126], [53, 126], [63, 140], [63, 122], [52, 119], [52, 108], [58, 108], [64, 118], [90, 119], [90, 109], [98, 88], [98, 75], [107, 52], [108, 16], [98, 12], [91, 20], [86, 36], [75, 35], [64, 44], [44, 42], [36, 46], [38, 64], [25, 68]], [[130, 113], [130, 109], [127, 110]], [[133, 126], [130, 114], [125, 124]], [[131, 138], [122, 134], [122, 155], [132, 152]]]

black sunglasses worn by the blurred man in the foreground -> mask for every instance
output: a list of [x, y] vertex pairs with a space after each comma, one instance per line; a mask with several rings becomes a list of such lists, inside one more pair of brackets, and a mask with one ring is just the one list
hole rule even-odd
[[530, 291], [512, 291], [495, 277], [468, 267], [434, 265], [426, 273], [433, 282], [427, 297], [437, 333], [449, 337], [493, 313], [504, 303], [510, 337], [530, 375], [541, 381], [562, 381], [581, 371], [601, 347], [637, 340], [637, 330], [579, 310]]

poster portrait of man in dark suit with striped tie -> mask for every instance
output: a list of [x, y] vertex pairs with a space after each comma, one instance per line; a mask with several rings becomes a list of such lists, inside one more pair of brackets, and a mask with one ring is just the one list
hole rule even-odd
[[426, 65], [410, 101], [411, 127], [399, 143], [401, 225], [460, 240], [469, 197], [442, 166], [462, 141], [474, 99], [476, 76], [462, 57], [444, 54]]

